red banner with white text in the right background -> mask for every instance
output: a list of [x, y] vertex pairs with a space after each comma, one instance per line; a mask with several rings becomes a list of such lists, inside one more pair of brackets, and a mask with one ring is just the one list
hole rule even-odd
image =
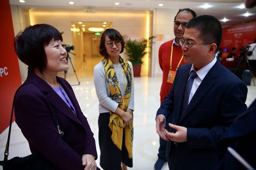
[[239, 54], [241, 52], [239, 49], [253, 43], [254, 39], [256, 39], [256, 21], [229, 26], [223, 28], [220, 47], [222, 50], [227, 48], [228, 52], [236, 47], [236, 53]]

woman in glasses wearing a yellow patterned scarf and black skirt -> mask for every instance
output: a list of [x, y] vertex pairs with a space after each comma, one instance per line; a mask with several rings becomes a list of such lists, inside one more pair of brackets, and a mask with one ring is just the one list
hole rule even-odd
[[132, 167], [134, 76], [132, 63], [119, 55], [123, 51], [122, 35], [115, 29], [104, 31], [99, 47], [104, 58], [94, 67], [100, 166], [104, 170]]

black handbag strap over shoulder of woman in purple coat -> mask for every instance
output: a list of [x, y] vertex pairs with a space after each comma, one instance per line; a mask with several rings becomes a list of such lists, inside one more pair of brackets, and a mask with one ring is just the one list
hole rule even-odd
[[[27, 82], [27, 83], [23, 83], [20, 87], [26, 85], [26, 84], [30, 84], [32, 82]], [[33, 83], [34, 84], [34, 83]], [[34, 84], [35, 85], [35, 84]], [[11, 107], [11, 119], [10, 119], [10, 125], [9, 125], [9, 132], [8, 132], [8, 137], [7, 137], [7, 143], [6, 143], [6, 150], [4, 152], [4, 161], [7, 161], [8, 159], [8, 155], [9, 155], [9, 144], [10, 144], [10, 136], [11, 136], [11, 125], [12, 125], [12, 122], [13, 122], [13, 108], [14, 108], [14, 102], [15, 102], [15, 98], [16, 98], [16, 94], [17, 92], [19, 91], [20, 87], [17, 89], [17, 91], [15, 92], [14, 94], [14, 97], [13, 97], [13, 105]], [[51, 117], [52, 117], [52, 120], [54, 122], [54, 125], [58, 128], [58, 131], [59, 131], [59, 135], [61, 136], [61, 139], [63, 139], [63, 131], [61, 131], [60, 129], [60, 126], [59, 126], [59, 122], [58, 122], [58, 119], [57, 119], [57, 116], [56, 116], [56, 112], [54, 111], [54, 109], [52, 108], [52, 105], [51, 103], [49, 102], [49, 105], [50, 105], [50, 114]]]

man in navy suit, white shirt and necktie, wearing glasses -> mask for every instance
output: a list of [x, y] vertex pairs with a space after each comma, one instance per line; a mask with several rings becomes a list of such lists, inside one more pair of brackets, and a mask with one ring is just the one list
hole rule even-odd
[[[180, 40], [184, 61], [156, 114], [156, 130], [168, 140], [171, 170], [217, 168], [217, 141], [234, 118], [246, 111], [247, 87], [215, 57], [222, 38], [219, 20], [192, 18]], [[170, 129], [165, 118], [172, 115]]]

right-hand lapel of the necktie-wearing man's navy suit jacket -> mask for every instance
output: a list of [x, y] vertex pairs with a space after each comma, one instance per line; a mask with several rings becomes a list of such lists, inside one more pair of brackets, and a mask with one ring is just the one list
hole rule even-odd
[[[217, 61], [213, 65], [213, 67], [209, 70], [209, 72], [206, 74], [203, 81], [200, 83], [197, 91], [195, 92], [193, 98], [191, 99], [189, 105], [187, 106], [187, 110], [184, 118], [189, 114], [189, 112], [192, 111], [193, 108], [196, 107], [196, 105], [202, 100], [202, 98], [207, 94], [207, 92], [215, 84], [214, 79], [219, 76], [220, 69], [221, 69], [221, 64], [219, 63], [219, 61]], [[181, 112], [178, 112], [178, 113], [181, 113]], [[180, 120], [179, 122], [181, 122], [182, 120]]]

